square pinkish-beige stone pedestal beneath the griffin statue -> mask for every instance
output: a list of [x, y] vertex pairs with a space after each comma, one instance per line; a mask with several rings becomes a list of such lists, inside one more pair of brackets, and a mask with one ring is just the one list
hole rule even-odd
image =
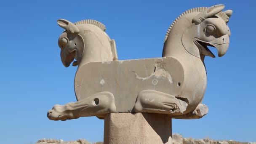
[[104, 144], [171, 144], [171, 116], [151, 113], [107, 114]]

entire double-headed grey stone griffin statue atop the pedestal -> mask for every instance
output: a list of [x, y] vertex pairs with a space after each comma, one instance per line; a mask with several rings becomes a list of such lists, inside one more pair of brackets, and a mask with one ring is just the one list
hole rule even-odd
[[205, 56], [215, 57], [207, 46], [223, 56], [229, 47], [227, 23], [231, 10], [224, 5], [192, 8], [168, 29], [163, 57], [118, 61], [115, 40], [95, 20], [59, 19], [65, 31], [59, 37], [61, 61], [77, 66], [77, 102], [55, 105], [50, 120], [69, 120], [109, 113], [147, 112], [196, 119], [208, 113], [201, 104], [207, 75]]

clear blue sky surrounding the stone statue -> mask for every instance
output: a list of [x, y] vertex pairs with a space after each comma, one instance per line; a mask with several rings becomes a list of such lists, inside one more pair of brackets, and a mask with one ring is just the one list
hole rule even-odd
[[[255, 2], [253, 0], [3, 0], [0, 4], [0, 143], [31, 144], [52, 138], [103, 141], [104, 120], [51, 121], [54, 104], [76, 101], [77, 67], [65, 68], [57, 19], [95, 19], [115, 39], [118, 58], [161, 57], [165, 32], [177, 16], [199, 7], [232, 9], [229, 50], [205, 60], [208, 85], [199, 120], [173, 120], [173, 133], [197, 139], [256, 141]], [[213, 50], [216, 55], [217, 51]], [[20, 142], [18, 142], [20, 141]]]

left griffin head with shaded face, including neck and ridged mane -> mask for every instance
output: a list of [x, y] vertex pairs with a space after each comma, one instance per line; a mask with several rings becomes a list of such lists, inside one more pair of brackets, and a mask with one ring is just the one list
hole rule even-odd
[[115, 45], [115, 41], [110, 40], [104, 32], [106, 30], [104, 24], [91, 19], [74, 24], [65, 19], [59, 19], [57, 23], [65, 29], [58, 40], [61, 61], [65, 67], [69, 67], [74, 59], [76, 61], [73, 62], [73, 66], [113, 60], [111, 46]]

